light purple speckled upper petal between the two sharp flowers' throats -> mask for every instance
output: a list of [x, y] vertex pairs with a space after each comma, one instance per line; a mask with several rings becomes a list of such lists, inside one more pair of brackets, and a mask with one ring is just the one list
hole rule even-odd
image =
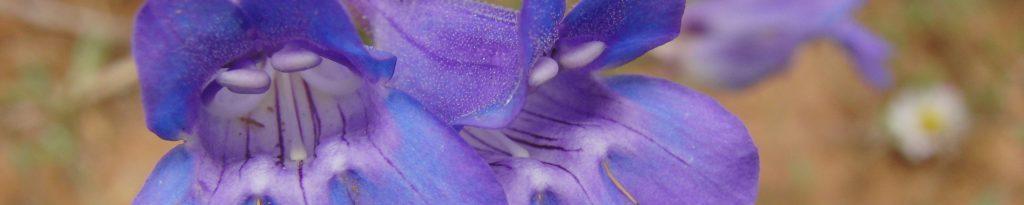
[[399, 58], [390, 85], [444, 121], [492, 127], [521, 107], [528, 69], [550, 49], [562, 9], [527, 2], [520, 16], [464, 0], [349, 2], [368, 17], [375, 46]]

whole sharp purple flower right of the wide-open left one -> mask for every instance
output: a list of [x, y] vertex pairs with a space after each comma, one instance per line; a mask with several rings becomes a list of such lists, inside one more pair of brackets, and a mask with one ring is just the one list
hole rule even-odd
[[738, 119], [669, 81], [595, 74], [674, 39], [682, 0], [584, 0], [564, 17], [559, 0], [348, 1], [398, 57], [396, 87], [462, 128], [511, 204], [754, 202]]

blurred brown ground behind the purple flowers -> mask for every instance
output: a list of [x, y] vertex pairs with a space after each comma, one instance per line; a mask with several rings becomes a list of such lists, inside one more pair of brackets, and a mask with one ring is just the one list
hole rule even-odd
[[[0, 0], [0, 204], [128, 204], [160, 157], [133, 59], [139, 1]], [[859, 80], [833, 42], [746, 90], [684, 81], [645, 56], [614, 73], [694, 86], [737, 115], [761, 154], [759, 204], [1024, 204], [1024, 1], [869, 1], [894, 48], [893, 90]], [[946, 81], [971, 128], [952, 152], [899, 154], [885, 108], [900, 87]]]

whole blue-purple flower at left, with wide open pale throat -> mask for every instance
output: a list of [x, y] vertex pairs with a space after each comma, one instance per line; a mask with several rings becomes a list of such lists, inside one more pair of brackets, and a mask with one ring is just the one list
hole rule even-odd
[[151, 0], [132, 45], [150, 128], [184, 141], [136, 204], [505, 202], [338, 1]]

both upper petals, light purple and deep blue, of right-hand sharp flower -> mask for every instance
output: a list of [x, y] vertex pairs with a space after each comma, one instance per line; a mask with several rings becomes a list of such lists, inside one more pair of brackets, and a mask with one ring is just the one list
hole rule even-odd
[[541, 57], [598, 41], [607, 49], [578, 70], [621, 66], [675, 38], [672, 16], [683, 8], [679, 0], [591, 0], [565, 15], [564, 0], [528, 0], [516, 16], [473, 1], [346, 2], [367, 15], [377, 46], [401, 58], [391, 85], [451, 124], [483, 127], [511, 121]]

